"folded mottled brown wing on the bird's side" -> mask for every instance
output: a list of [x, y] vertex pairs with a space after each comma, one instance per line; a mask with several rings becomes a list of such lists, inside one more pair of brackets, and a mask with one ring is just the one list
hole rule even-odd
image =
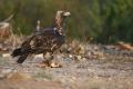
[[44, 31], [39, 34], [34, 34], [22, 43], [22, 48], [32, 53], [41, 53], [45, 51], [53, 51], [59, 48], [58, 37], [54, 31]]

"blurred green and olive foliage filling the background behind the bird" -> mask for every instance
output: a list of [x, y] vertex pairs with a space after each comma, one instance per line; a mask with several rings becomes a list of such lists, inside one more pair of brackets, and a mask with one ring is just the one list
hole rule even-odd
[[133, 42], [133, 0], [0, 0], [0, 21], [14, 14], [13, 31], [29, 34], [37, 20], [43, 28], [51, 26], [57, 10], [72, 13], [66, 21], [71, 39]]

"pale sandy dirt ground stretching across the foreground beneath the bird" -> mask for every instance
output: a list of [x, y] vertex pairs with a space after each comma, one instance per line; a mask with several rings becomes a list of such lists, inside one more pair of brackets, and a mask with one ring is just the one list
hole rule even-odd
[[40, 68], [43, 59], [33, 57], [19, 66], [17, 58], [1, 56], [0, 89], [133, 89], [133, 51], [108, 46], [99, 51], [104, 58], [57, 53], [61, 68]]

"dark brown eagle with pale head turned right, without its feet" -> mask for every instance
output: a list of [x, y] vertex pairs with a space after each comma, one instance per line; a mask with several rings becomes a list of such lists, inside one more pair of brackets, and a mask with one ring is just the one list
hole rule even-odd
[[53, 24], [49, 28], [38, 30], [24, 40], [20, 48], [12, 51], [12, 57], [19, 57], [18, 63], [22, 63], [29, 55], [39, 55], [50, 52], [51, 56], [65, 41], [64, 20], [71, 13], [69, 11], [57, 11]]

